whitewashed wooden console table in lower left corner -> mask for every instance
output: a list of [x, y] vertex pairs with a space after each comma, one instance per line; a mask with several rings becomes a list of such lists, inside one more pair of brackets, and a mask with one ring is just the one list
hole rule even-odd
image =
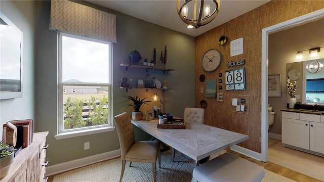
[[32, 143], [22, 149], [11, 164], [9, 173], [0, 179], [0, 182], [40, 182], [47, 181], [45, 177], [46, 161], [46, 136], [48, 131], [33, 133]]

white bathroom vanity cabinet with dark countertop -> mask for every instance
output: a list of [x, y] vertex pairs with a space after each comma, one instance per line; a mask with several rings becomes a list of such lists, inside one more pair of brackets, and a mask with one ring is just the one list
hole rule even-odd
[[281, 109], [285, 147], [324, 157], [324, 111]]

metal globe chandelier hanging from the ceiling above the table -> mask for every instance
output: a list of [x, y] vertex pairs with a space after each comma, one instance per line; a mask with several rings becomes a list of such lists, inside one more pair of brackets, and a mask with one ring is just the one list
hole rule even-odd
[[[189, 4], [190, 2], [192, 2]], [[204, 0], [200, 0], [200, 7], [197, 9], [197, 3], [198, 0], [184, 0], [184, 3], [180, 6], [181, 0], [178, 0], [177, 3], [177, 10], [178, 14], [183, 22], [185, 22], [188, 25], [188, 28], [198, 28], [200, 26], [206, 25], [210, 23], [216, 15], [218, 14], [218, 11], [220, 9], [221, 2], [220, 0], [211, 0], [213, 13], [211, 13], [211, 5], [205, 5], [204, 6]], [[189, 5], [189, 7], [188, 7]], [[191, 14], [188, 12], [188, 9], [192, 10]], [[204, 12], [204, 16], [203, 16]], [[190, 16], [188, 16], [188, 14]], [[197, 17], [198, 15], [198, 17]]]

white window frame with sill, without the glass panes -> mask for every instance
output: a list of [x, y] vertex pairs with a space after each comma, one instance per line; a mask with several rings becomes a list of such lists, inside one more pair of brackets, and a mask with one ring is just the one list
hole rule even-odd
[[[62, 36], [68, 36], [77, 39], [84, 39], [89, 41], [96, 41], [100, 43], [105, 43], [109, 45], [109, 83], [71, 83], [62, 81]], [[94, 134], [106, 131], [114, 130], [112, 119], [113, 119], [113, 110], [112, 110], [112, 42], [99, 40], [96, 38], [90, 38], [82, 35], [76, 35], [73, 33], [66, 33], [58, 31], [58, 122], [57, 122], [57, 135], [55, 135], [56, 140], [67, 139], [76, 136], [82, 136], [87, 134]], [[64, 130], [64, 119], [63, 119], [63, 87], [66, 85], [74, 86], [107, 86], [108, 87], [108, 124], [100, 126], [89, 126], [84, 128], [75, 128]]]

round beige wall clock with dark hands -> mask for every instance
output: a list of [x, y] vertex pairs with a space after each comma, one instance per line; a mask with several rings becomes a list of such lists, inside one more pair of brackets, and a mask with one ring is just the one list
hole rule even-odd
[[222, 62], [222, 54], [216, 49], [208, 50], [203, 59], [201, 59], [201, 65], [205, 71], [216, 70]]

